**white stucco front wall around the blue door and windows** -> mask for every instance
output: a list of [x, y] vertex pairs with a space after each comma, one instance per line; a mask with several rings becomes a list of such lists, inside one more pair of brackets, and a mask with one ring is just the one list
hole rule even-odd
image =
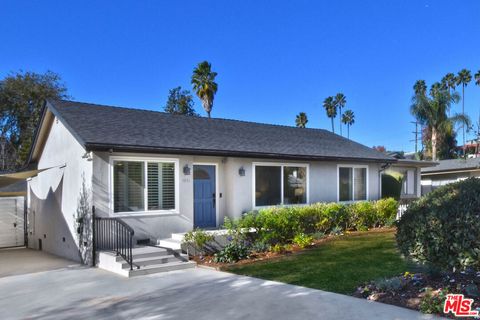
[[[221, 226], [225, 216], [240, 217], [242, 213], [253, 208], [252, 169], [254, 162], [306, 163], [296, 161], [272, 161], [235, 157], [203, 157], [188, 155], [155, 155], [96, 152], [93, 157], [93, 203], [97, 215], [120, 216], [111, 208], [110, 157], [128, 156], [132, 159], [158, 157], [179, 160], [179, 210], [169, 214], [129, 214], [121, 216], [135, 229], [137, 239], [162, 239], [171, 233], [186, 232], [193, 228], [193, 164], [205, 163], [217, 165], [217, 226]], [[337, 162], [317, 161], [309, 164], [309, 200], [314, 202], [337, 201], [338, 171]], [[380, 164], [342, 163], [345, 165], [368, 166], [368, 199], [380, 197]], [[183, 167], [188, 165], [192, 172], [183, 174]], [[245, 176], [239, 175], [239, 169], [245, 169]], [[220, 194], [222, 197], [220, 198]]]

